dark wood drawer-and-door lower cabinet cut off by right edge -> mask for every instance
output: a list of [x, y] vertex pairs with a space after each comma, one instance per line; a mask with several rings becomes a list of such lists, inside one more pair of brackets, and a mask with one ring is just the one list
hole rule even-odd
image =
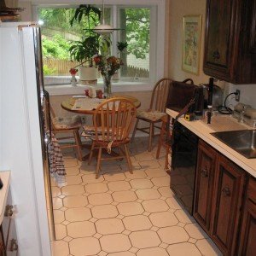
[[254, 256], [256, 254], [256, 181], [251, 178], [248, 184], [247, 200], [241, 222], [239, 238], [239, 255]]

